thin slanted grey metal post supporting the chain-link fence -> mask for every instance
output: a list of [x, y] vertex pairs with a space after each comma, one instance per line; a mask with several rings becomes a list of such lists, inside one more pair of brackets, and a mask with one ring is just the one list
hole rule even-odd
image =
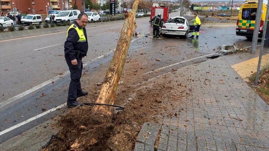
[[259, 80], [259, 74], [260, 74], [260, 65], [262, 62], [262, 56], [263, 56], [263, 48], [264, 48], [264, 42], [265, 42], [265, 35], [267, 31], [267, 23], [268, 23], [268, 14], [269, 14], [269, 1], [267, 2], [267, 9], [266, 9], [266, 16], [265, 16], [265, 23], [264, 23], [264, 28], [263, 28], [263, 38], [261, 42], [261, 48], [260, 48], [260, 56], [259, 56], [259, 62], [258, 62], [258, 67], [257, 67], [257, 73], [256, 73], [256, 79], [255, 79], [255, 85], [258, 84]]

